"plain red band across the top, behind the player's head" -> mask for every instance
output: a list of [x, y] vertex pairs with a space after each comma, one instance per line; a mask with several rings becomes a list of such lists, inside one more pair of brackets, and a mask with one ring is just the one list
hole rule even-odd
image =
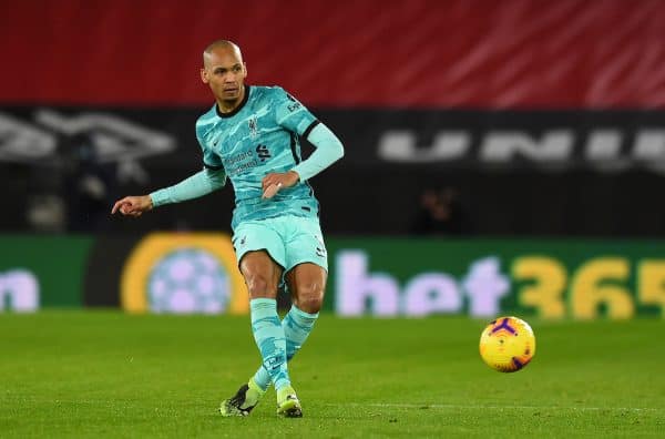
[[200, 53], [313, 106], [665, 106], [661, 0], [34, 0], [0, 14], [0, 102], [202, 105]]

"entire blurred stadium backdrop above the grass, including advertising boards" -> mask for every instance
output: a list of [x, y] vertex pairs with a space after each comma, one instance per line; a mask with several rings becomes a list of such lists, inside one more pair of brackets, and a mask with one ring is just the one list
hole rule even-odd
[[328, 310], [661, 316], [664, 21], [657, 0], [9, 2], [0, 308], [245, 312], [231, 190], [109, 215], [200, 169], [201, 51], [227, 38], [345, 143], [313, 181]]

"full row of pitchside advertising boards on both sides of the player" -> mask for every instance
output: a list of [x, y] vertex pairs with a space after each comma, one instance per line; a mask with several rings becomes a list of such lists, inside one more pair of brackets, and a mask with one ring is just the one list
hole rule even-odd
[[[0, 236], [0, 310], [248, 310], [226, 234]], [[665, 242], [332, 237], [327, 246], [325, 310], [339, 316], [665, 316]]]

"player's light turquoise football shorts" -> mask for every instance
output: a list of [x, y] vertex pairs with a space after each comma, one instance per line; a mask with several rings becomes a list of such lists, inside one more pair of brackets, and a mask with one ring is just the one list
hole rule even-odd
[[265, 249], [284, 273], [303, 263], [328, 270], [328, 252], [318, 218], [285, 215], [245, 221], [238, 224], [232, 241], [238, 266], [247, 252]]

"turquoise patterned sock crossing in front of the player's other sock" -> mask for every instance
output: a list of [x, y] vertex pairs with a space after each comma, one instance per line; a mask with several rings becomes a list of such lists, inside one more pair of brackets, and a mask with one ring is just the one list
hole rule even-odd
[[277, 314], [277, 302], [256, 298], [249, 302], [252, 331], [275, 388], [290, 386], [286, 366], [286, 338]]

